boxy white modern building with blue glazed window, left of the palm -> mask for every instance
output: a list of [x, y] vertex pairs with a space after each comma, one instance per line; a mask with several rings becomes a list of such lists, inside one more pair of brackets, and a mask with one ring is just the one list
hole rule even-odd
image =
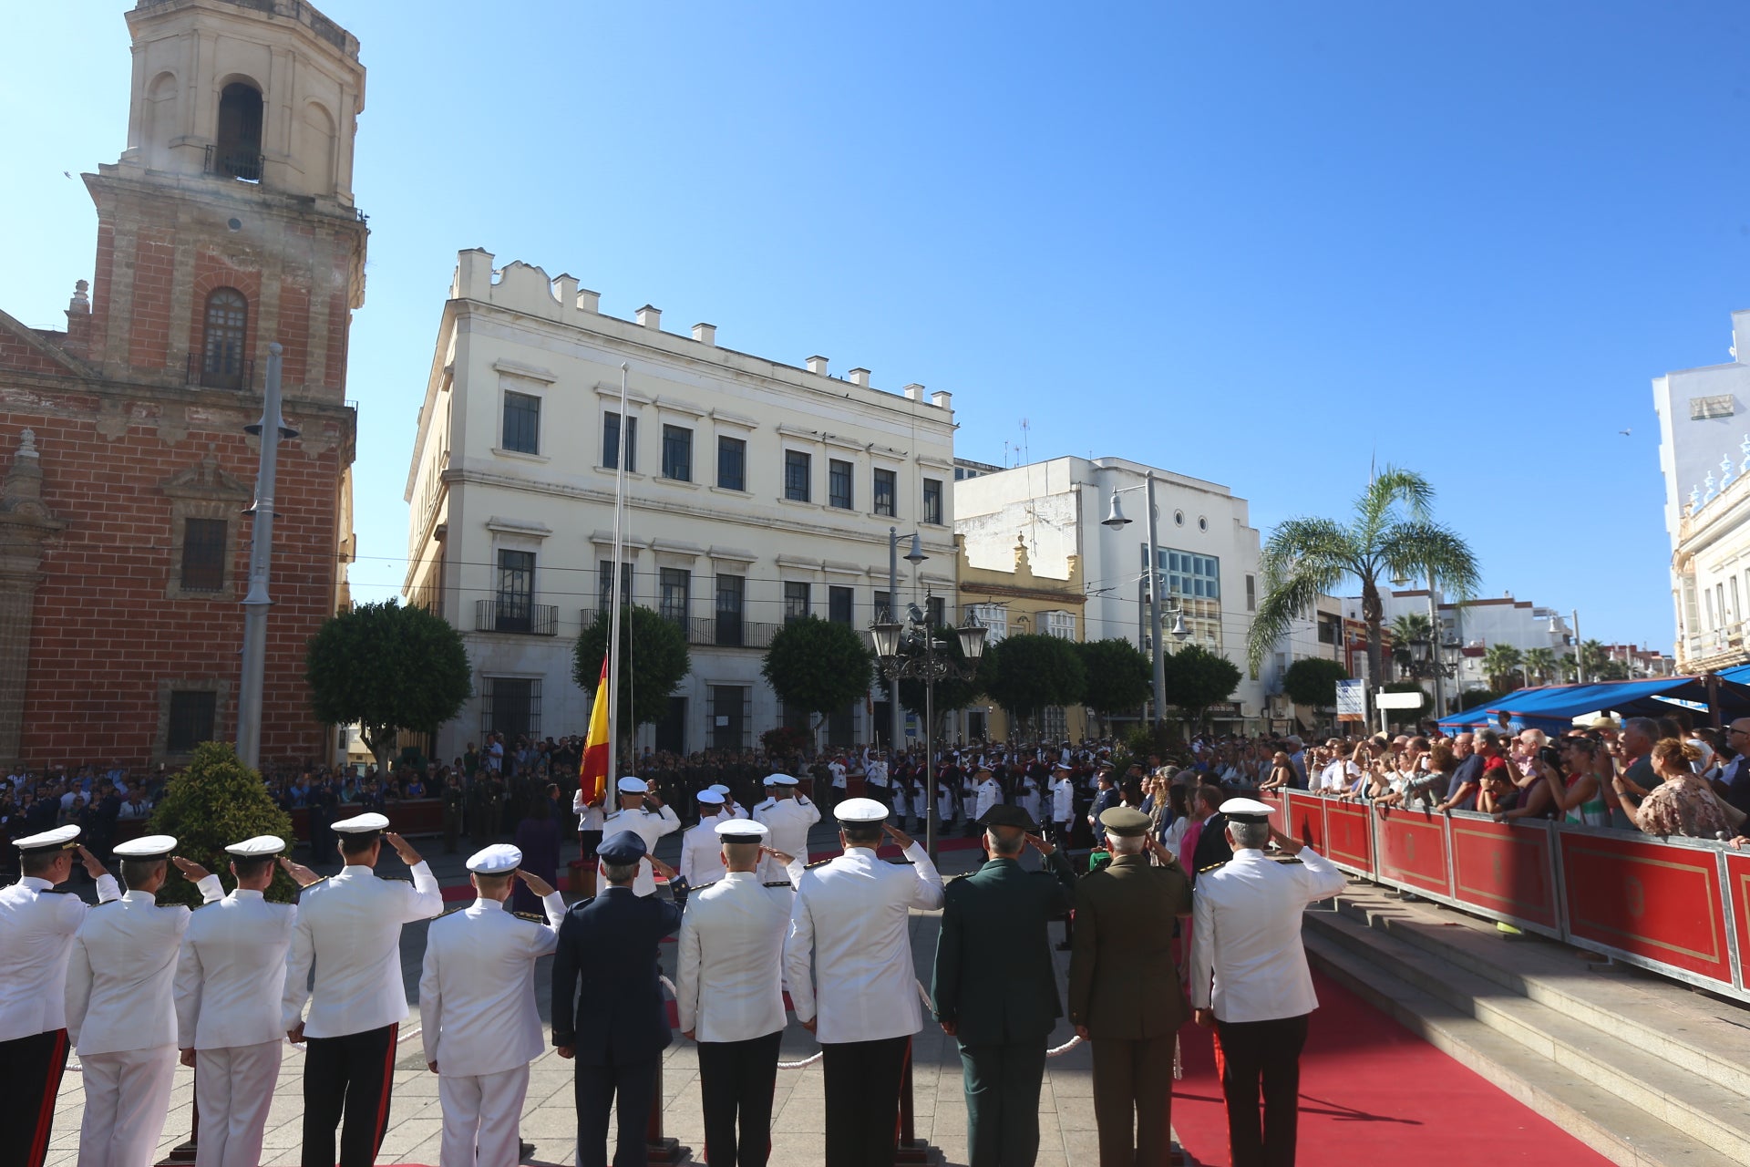
[[[964, 464], [962, 464], [964, 465]], [[954, 483], [954, 527], [971, 567], [1003, 569], [1017, 535], [1032, 569], [1066, 577], [1080, 556], [1087, 590], [1082, 637], [1124, 639], [1150, 646], [1146, 602], [1150, 467], [1125, 458], [1050, 458], [1012, 469], [980, 471]], [[1239, 665], [1242, 681], [1228, 709], [1214, 710], [1218, 728], [1262, 724], [1269, 677], [1251, 677], [1246, 633], [1258, 600], [1258, 530], [1250, 507], [1227, 486], [1153, 471], [1157, 551], [1169, 607], [1185, 618], [1190, 637]], [[1113, 492], [1130, 521], [1106, 527]], [[1164, 621], [1171, 626], [1172, 616]], [[1311, 625], [1309, 625], [1311, 628]], [[1167, 651], [1178, 642], [1167, 639]]]

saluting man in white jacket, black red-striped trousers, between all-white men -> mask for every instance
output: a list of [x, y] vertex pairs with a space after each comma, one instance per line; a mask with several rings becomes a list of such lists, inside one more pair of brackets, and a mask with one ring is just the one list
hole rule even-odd
[[[334, 824], [346, 866], [306, 887], [285, 961], [280, 1027], [304, 1055], [303, 1167], [371, 1167], [388, 1129], [396, 1034], [408, 1017], [401, 926], [443, 912], [432, 870], [388, 819], [362, 814]], [[413, 884], [376, 878], [388, 842]], [[312, 985], [312, 969], [315, 983]], [[304, 1003], [310, 1017], [304, 1018]], [[345, 1113], [340, 1158], [334, 1129]]]

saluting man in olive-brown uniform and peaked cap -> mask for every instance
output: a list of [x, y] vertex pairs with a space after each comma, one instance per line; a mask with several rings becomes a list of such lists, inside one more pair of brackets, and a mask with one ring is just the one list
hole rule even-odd
[[1141, 810], [1113, 807], [1101, 826], [1111, 863], [1076, 885], [1069, 1020], [1094, 1045], [1101, 1167], [1166, 1167], [1172, 1043], [1188, 1017], [1172, 920], [1190, 915], [1192, 885]]

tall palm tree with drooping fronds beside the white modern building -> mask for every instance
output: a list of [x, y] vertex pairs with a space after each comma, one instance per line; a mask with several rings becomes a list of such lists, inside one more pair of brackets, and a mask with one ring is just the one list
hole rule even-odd
[[1297, 614], [1344, 579], [1362, 584], [1362, 619], [1367, 621], [1367, 672], [1381, 675], [1384, 609], [1379, 581], [1432, 574], [1460, 602], [1477, 591], [1479, 570], [1465, 541], [1430, 516], [1433, 486], [1416, 471], [1388, 465], [1354, 500], [1349, 523], [1328, 518], [1292, 518], [1270, 532], [1260, 570], [1264, 597], [1251, 619], [1246, 654], [1258, 672], [1276, 642], [1288, 635]]

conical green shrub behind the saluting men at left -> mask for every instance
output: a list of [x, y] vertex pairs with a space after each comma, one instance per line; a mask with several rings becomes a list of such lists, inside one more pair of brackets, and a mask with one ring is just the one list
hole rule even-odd
[[[224, 880], [226, 891], [236, 887], [231, 878], [231, 856], [226, 847], [257, 835], [278, 835], [290, 845], [292, 815], [275, 805], [261, 773], [245, 766], [236, 751], [224, 742], [201, 742], [187, 770], [173, 775], [163, 798], [152, 810], [150, 831], [173, 835], [177, 854], [192, 859]], [[298, 887], [276, 871], [268, 899], [290, 903]], [[158, 903], [194, 906], [201, 894], [194, 884], [175, 871], [158, 892]]]

